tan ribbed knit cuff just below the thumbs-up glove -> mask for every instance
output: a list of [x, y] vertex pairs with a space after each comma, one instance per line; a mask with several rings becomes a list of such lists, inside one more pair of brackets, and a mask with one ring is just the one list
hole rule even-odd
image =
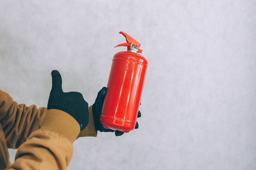
[[80, 132], [79, 123], [62, 110], [50, 109], [45, 113], [40, 130], [50, 130], [66, 136], [72, 143]]

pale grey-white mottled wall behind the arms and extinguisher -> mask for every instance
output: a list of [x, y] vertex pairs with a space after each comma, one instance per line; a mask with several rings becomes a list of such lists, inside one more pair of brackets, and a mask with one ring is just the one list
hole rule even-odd
[[92, 105], [119, 31], [149, 63], [139, 129], [78, 139], [67, 169], [255, 170], [254, 0], [0, 0], [0, 89], [45, 107], [58, 69]]

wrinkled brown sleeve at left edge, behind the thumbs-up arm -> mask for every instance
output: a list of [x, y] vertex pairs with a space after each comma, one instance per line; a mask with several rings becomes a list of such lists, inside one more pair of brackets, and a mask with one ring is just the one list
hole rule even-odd
[[46, 111], [46, 107], [18, 105], [9, 94], [0, 90], [0, 123], [8, 148], [19, 148], [32, 132], [38, 130]]

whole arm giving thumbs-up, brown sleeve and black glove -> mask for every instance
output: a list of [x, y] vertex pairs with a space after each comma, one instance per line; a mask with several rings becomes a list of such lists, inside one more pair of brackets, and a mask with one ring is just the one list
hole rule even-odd
[[61, 75], [52, 72], [52, 90], [40, 129], [20, 145], [14, 169], [66, 169], [72, 158], [72, 143], [88, 125], [88, 103], [79, 92], [62, 91]]

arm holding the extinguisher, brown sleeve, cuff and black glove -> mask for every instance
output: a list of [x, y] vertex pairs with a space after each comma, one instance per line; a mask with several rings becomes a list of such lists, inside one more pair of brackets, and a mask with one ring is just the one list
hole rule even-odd
[[[104, 90], [106, 90], [106, 87], [103, 87], [103, 89], [99, 91], [94, 105], [88, 108], [89, 123], [88, 126], [79, 133], [78, 138], [97, 136], [98, 130], [101, 132], [115, 132], [114, 130], [103, 128], [99, 123], [99, 115], [101, 114], [101, 108], [105, 97], [101, 92]], [[95, 109], [95, 105], [99, 105], [98, 109]], [[0, 90], [0, 113], [2, 113], [0, 114], [0, 122], [4, 126], [3, 129], [6, 134], [8, 148], [18, 148], [20, 144], [26, 141], [27, 137], [32, 132], [38, 130], [42, 124], [46, 111], [46, 107], [37, 108], [35, 105], [29, 107], [25, 104], [18, 105], [13, 101], [11, 96]], [[140, 117], [140, 112], [138, 117]], [[138, 128], [138, 126], [136, 128]], [[116, 136], [119, 136], [123, 134], [123, 132], [115, 132], [115, 134]]]

